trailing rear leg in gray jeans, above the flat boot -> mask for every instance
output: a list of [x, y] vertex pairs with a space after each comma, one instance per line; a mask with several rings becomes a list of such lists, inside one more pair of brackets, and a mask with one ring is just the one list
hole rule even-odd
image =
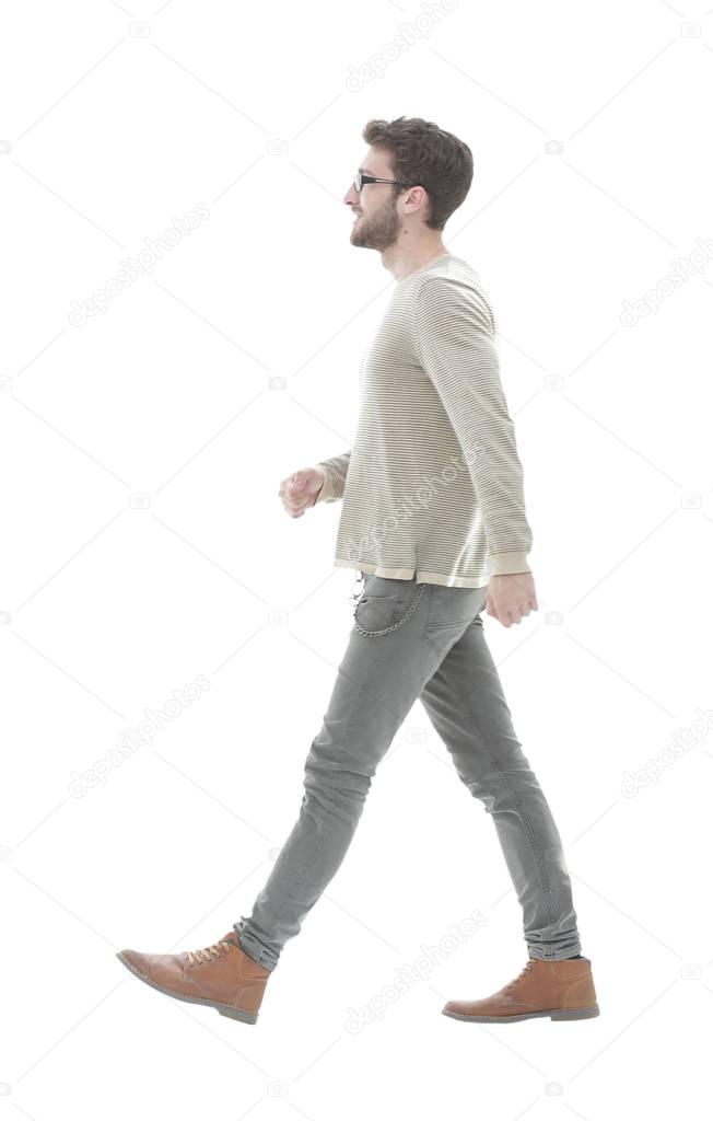
[[492, 815], [531, 957], [581, 954], [562, 842], [523, 754], [478, 614], [421, 694], [462, 782]]

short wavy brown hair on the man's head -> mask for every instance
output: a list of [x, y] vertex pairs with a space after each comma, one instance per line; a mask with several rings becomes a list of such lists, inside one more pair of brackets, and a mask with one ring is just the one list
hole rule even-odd
[[[388, 151], [395, 179], [426, 191], [424, 222], [431, 230], [442, 230], [470, 191], [472, 152], [468, 145], [422, 117], [372, 120], [362, 136], [372, 147]], [[395, 197], [405, 187], [392, 189]]]

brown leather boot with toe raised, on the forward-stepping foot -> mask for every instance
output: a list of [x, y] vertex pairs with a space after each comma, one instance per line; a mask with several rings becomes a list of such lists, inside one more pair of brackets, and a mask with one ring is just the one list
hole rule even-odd
[[187, 1000], [209, 1004], [221, 1016], [255, 1023], [270, 970], [248, 957], [234, 929], [205, 949], [181, 954], [141, 954], [118, 951], [116, 957], [153, 989]]

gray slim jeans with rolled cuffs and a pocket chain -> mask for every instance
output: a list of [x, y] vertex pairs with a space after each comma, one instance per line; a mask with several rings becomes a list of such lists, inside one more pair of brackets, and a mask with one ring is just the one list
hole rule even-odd
[[[275, 967], [341, 864], [376, 767], [418, 698], [458, 777], [492, 816], [529, 956], [581, 953], [560, 834], [486, 645], [486, 592], [365, 574], [323, 724], [307, 756], [300, 815], [252, 915], [234, 924], [243, 951], [265, 967]], [[473, 861], [457, 874], [472, 876]]]

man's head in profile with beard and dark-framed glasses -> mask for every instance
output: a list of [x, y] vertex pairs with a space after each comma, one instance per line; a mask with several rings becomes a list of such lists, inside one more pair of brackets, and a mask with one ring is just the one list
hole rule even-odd
[[372, 120], [362, 137], [369, 148], [359, 170], [390, 183], [365, 183], [358, 193], [349, 187], [351, 244], [385, 250], [402, 230], [442, 230], [472, 183], [468, 145], [421, 117]]

